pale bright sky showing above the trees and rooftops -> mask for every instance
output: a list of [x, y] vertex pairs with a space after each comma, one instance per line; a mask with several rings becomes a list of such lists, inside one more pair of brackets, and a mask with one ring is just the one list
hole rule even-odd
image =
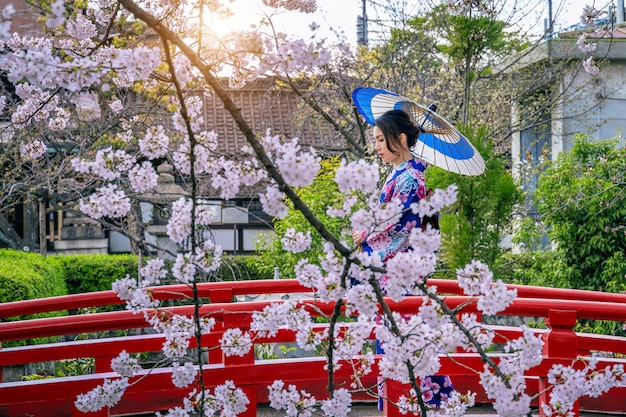
[[[519, 2], [521, 0], [511, 0]], [[580, 14], [585, 3], [593, 4], [594, 0], [552, 0], [553, 13], [557, 15], [555, 30], [562, 30], [572, 26], [580, 21]], [[609, 0], [607, 0], [609, 1]], [[245, 25], [243, 22], [252, 22], [255, 15], [260, 13], [260, 0], [234, 0], [230, 6], [236, 13], [235, 23], [229, 25], [239, 26]], [[369, 3], [369, 2], [368, 2]], [[423, 2], [426, 3], [426, 2]], [[597, 0], [596, 0], [596, 3]], [[309, 37], [311, 32], [309, 25], [312, 22], [320, 26], [317, 37], [336, 39], [333, 31], [343, 33], [351, 44], [356, 44], [356, 21], [357, 16], [362, 14], [362, 0], [318, 0], [318, 11], [314, 14], [294, 14], [283, 13], [275, 18], [275, 22], [279, 27], [287, 32], [299, 37]], [[544, 4], [547, 4], [545, 2]], [[374, 10], [371, 4], [366, 6], [368, 17], [372, 18]], [[599, 7], [596, 5], [596, 7]], [[547, 18], [547, 12], [544, 13]], [[258, 19], [258, 18], [257, 18]], [[541, 19], [541, 18], [540, 18]], [[537, 15], [532, 17], [533, 21], [537, 20]], [[543, 29], [543, 24], [540, 25]]]

